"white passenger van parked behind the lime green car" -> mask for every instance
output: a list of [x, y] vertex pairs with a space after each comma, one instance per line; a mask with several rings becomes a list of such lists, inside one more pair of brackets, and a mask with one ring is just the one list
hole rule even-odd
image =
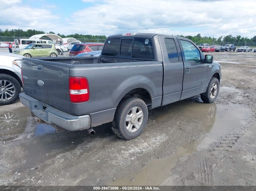
[[52, 42], [52, 40], [34, 40], [34, 39], [15, 39], [15, 47], [18, 48], [25, 48], [31, 43], [48, 43], [48, 44], [54, 44], [55, 49], [57, 50], [58, 54], [60, 54], [61, 50], [63, 52], [68, 51], [68, 49], [62, 45], [55, 44]]

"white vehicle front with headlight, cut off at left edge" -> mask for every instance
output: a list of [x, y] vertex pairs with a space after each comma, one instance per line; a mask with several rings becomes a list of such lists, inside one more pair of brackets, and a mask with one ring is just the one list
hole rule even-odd
[[0, 53], [0, 106], [8, 105], [19, 98], [22, 75], [21, 62], [24, 56]]

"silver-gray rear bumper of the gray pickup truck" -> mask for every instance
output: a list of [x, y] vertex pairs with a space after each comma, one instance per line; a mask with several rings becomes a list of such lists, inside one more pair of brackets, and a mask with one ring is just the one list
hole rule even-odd
[[91, 118], [88, 115], [72, 116], [25, 93], [19, 94], [19, 97], [23, 105], [48, 124], [55, 124], [68, 131], [89, 129], [91, 126]]

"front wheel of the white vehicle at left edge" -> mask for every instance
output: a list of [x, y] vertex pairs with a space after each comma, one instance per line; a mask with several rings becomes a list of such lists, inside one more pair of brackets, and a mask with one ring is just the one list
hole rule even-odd
[[18, 80], [7, 74], [0, 74], [0, 106], [14, 103], [21, 92]]

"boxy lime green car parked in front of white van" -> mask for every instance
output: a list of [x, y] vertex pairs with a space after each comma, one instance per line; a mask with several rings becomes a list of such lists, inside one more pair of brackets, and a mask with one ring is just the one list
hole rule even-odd
[[15, 54], [30, 57], [57, 57], [58, 52], [54, 44], [32, 43], [24, 49], [14, 50]]

